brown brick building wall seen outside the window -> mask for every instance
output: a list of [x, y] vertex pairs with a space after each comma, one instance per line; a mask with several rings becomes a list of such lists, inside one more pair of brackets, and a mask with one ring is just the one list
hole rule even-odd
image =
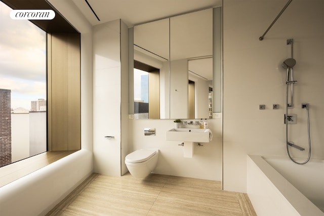
[[11, 90], [0, 89], [0, 167], [11, 163]]

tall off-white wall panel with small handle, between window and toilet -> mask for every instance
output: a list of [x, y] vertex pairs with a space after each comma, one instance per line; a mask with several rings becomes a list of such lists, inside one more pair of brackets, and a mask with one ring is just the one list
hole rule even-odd
[[[94, 171], [120, 176], [120, 21], [94, 27]], [[113, 136], [114, 139], [104, 139]]]

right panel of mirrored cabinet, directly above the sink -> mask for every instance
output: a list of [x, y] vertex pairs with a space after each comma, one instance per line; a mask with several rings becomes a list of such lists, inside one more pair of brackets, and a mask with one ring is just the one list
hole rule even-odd
[[[202, 95], [200, 83], [189, 83], [189, 63], [199, 62], [213, 56], [213, 9], [207, 9], [170, 18], [170, 118], [209, 118], [208, 88]], [[196, 59], [196, 60], [194, 60]], [[189, 61], [192, 60], [192, 61]], [[202, 61], [202, 60], [201, 60]], [[205, 65], [195, 64], [196, 74], [204, 71]], [[199, 68], [201, 67], [201, 68]], [[211, 67], [212, 61], [211, 61]], [[199, 69], [197, 69], [199, 68]], [[193, 70], [193, 68], [191, 68]], [[202, 74], [203, 75], [203, 74]], [[212, 75], [212, 73], [211, 73]], [[212, 76], [210, 76], [212, 82]], [[189, 87], [190, 95], [189, 98]], [[194, 88], [193, 88], [194, 87]], [[196, 96], [196, 97], [194, 97]], [[205, 97], [206, 104], [200, 103]], [[197, 101], [197, 103], [195, 102]], [[191, 104], [189, 106], [189, 103]], [[193, 105], [192, 105], [193, 104]], [[195, 109], [191, 109], [191, 108]], [[205, 112], [201, 112], [205, 107]], [[199, 111], [199, 115], [196, 111]]]

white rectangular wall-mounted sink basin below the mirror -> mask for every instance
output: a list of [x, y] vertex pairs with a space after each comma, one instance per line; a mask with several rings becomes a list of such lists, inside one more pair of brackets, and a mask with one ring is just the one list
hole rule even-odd
[[210, 133], [208, 129], [199, 128], [172, 128], [167, 131], [167, 140], [181, 142], [209, 143]]

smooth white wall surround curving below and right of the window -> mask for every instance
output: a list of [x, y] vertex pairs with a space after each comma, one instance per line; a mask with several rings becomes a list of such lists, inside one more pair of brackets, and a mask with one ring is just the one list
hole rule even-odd
[[81, 33], [82, 150], [1, 187], [0, 215], [45, 215], [93, 171], [92, 27], [71, 2], [50, 2]]

